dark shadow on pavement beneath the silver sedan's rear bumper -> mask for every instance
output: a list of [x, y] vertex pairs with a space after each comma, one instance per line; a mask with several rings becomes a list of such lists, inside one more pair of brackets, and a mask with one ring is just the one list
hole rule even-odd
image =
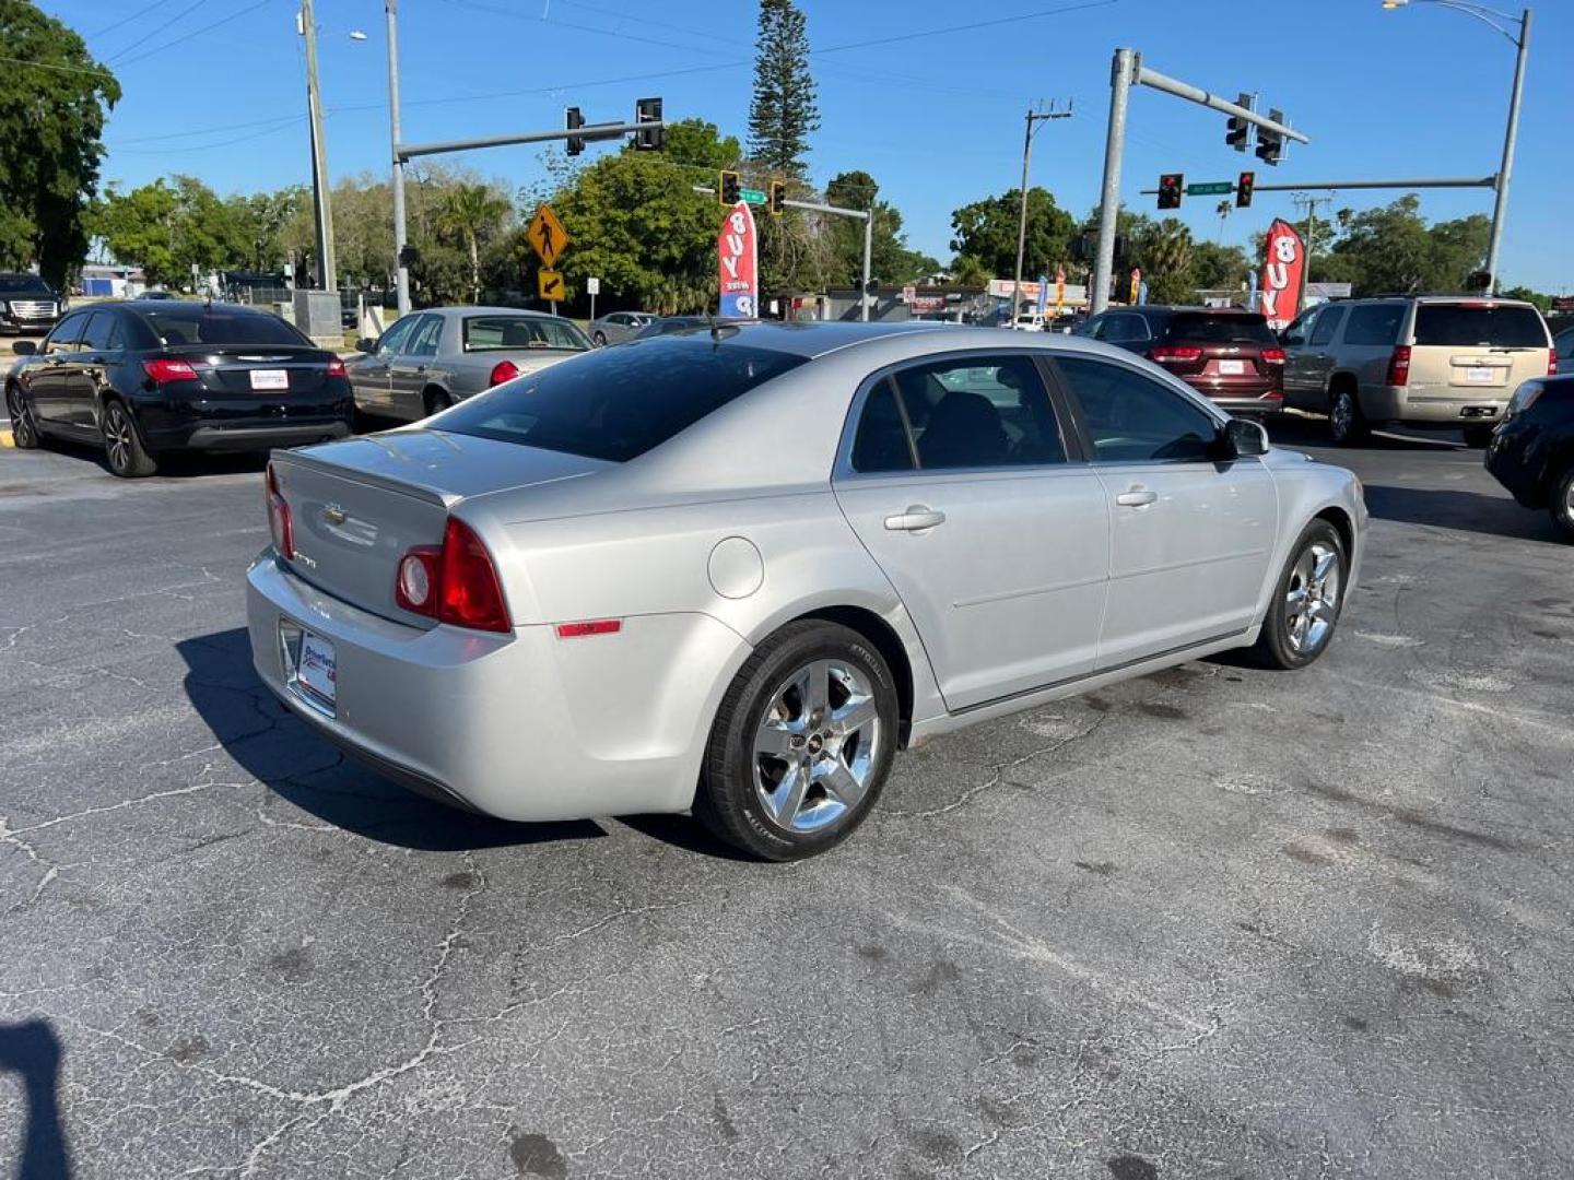
[[475, 851], [606, 835], [589, 820], [508, 823], [472, 815], [412, 795], [362, 766], [274, 699], [252, 669], [244, 628], [184, 639], [175, 650], [186, 661], [186, 697], [225, 754], [274, 795], [326, 824], [420, 851]]

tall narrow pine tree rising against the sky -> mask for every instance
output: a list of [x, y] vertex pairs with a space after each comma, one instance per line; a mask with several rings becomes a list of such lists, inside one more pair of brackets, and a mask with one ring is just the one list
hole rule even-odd
[[754, 42], [754, 98], [749, 101], [749, 154], [784, 176], [807, 173], [809, 135], [820, 127], [809, 33], [793, 0], [760, 0]]

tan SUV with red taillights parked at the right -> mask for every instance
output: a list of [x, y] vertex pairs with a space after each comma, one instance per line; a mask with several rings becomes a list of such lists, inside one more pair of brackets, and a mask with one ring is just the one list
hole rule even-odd
[[1343, 445], [1399, 423], [1484, 447], [1519, 382], [1557, 367], [1541, 312], [1517, 299], [1347, 299], [1302, 312], [1280, 340], [1284, 404], [1327, 414]]

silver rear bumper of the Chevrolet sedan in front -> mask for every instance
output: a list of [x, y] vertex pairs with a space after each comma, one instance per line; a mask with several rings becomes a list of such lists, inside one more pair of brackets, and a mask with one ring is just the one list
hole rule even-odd
[[[748, 643], [700, 614], [614, 636], [394, 623], [318, 592], [268, 551], [247, 573], [257, 675], [395, 782], [504, 820], [689, 807], [710, 722]], [[280, 620], [334, 643], [332, 708], [291, 684]]]

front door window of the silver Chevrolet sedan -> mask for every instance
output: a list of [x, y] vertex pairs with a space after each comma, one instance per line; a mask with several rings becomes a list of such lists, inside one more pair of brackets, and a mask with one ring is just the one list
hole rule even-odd
[[1099, 463], [1201, 463], [1218, 425], [1180, 393], [1124, 365], [1056, 357], [1056, 368], [1081, 406]]

